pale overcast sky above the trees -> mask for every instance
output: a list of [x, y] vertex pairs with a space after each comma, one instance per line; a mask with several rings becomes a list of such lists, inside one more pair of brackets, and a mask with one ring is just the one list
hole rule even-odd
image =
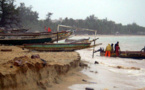
[[145, 0], [15, 0], [17, 5], [24, 2], [45, 19], [48, 12], [52, 19], [85, 19], [94, 14], [99, 19], [122, 23], [133, 22], [145, 27]]

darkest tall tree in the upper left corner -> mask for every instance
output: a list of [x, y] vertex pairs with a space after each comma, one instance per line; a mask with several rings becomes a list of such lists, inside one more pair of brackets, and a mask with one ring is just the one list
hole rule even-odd
[[19, 22], [14, 0], [0, 0], [0, 26], [12, 28], [19, 26]]

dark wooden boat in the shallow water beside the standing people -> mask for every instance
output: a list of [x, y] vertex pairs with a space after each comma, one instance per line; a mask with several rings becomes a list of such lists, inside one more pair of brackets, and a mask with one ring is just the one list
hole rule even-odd
[[[100, 51], [100, 56], [105, 56], [105, 51]], [[116, 53], [111, 53], [111, 57], [117, 57]], [[144, 51], [120, 51], [119, 57], [121, 58], [133, 58], [133, 59], [145, 59]]]

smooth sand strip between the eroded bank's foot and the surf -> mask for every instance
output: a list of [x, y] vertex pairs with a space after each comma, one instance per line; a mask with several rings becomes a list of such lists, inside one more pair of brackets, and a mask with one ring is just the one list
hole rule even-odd
[[55, 84], [48, 90], [69, 90], [69, 86], [74, 84], [88, 84], [87, 82], [82, 81], [83, 79], [88, 80], [89, 77], [82, 74], [80, 69], [72, 70], [63, 77], [63, 80], [59, 84]]

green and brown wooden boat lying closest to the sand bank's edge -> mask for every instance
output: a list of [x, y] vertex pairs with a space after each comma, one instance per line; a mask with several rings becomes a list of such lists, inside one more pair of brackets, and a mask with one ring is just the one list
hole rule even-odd
[[50, 44], [25, 44], [22, 48], [37, 51], [74, 51], [85, 48], [91, 48], [100, 44], [91, 45], [91, 43], [50, 43]]

